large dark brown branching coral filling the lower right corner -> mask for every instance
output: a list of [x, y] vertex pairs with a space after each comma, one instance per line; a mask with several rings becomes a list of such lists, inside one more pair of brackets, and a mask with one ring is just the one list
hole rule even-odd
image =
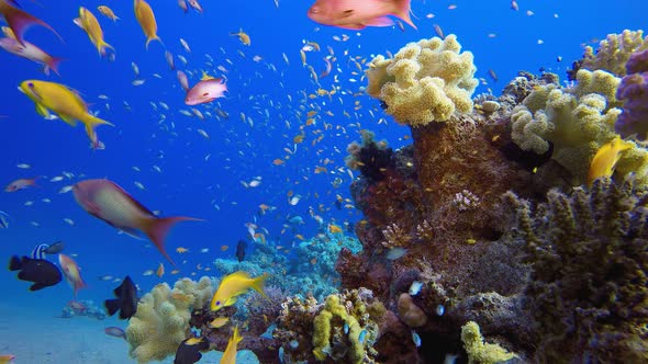
[[648, 361], [648, 190], [610, 179], [552, 190], [535, 213], [512, 193], [540, 362]]

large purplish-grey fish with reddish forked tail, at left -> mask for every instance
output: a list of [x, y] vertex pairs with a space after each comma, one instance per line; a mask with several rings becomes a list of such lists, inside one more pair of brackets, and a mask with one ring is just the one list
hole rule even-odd
[[109, 180], [81, 181], [72, 186], [72, 192], [77, 203], [90, 215], [134, 236], [143, 231], [174, 266], [164, 244], [167, 234], [178, 221], [201, 221], [185, 216], [157, 217]]

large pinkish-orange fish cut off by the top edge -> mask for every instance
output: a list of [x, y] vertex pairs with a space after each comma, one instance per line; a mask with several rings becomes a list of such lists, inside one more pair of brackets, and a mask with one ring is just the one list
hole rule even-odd
[[410, 18], [411, 0], [316, 0], [309, 9], [309, 18], [324, 25], [347, 30], [362, 30], [367, 26], [391, 26], [393, 15], [412, 27]]

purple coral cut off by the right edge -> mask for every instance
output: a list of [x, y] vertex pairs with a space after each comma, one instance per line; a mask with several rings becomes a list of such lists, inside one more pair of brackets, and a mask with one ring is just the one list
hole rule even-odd
[[[646, 41], [648, 47], [648, 41]], [[621, 81], [616, 92], [618, 100], [625, 101], [623, 113], [618, 116], [615, 129], [623, 137], [636, 135], [646, 140], [648, 134], [648, 49], [634, 53], [627, 65], [627, 76]]]

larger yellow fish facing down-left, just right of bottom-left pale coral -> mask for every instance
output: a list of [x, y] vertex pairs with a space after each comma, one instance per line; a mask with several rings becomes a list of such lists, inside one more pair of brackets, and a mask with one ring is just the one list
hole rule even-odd
[[217, 311], [223, 307], [232, 306], [236, 303], [236, 297], [247, 293], [250, 288], [257, 291], [266, 297], [264, 284], [270, 275], [265, 273], [256, 278], [250, 278], [247, 272], [234, 272], [221, 281], [219, 289], [212, 297], [210, 307], [212, 311]]

